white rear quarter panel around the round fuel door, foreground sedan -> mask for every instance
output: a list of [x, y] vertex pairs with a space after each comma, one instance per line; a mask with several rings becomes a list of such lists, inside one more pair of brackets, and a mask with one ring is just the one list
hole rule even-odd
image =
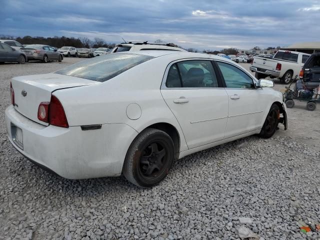
[[[101, 84], [60, 89], [53, 94], [62, 103], [70, 126], [125, 123], [140, 132], [151, 124], [166, 122], [177, 129], [180, 150], [186, 150], [183, 132], [160, 92], [166, 66], [167, 61], [154, 58]], [[140, 106], [138, 119], [128, 118], [130, 103]]]

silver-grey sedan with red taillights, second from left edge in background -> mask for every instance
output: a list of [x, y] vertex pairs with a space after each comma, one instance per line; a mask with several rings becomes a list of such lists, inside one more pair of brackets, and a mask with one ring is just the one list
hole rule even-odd
[[60, 52], [48, 45], [31, 44], [20, 48], [23, 51], [28, 60], [41, 60], [43, 62], [48, 61], [62, 61], [63, 56]]

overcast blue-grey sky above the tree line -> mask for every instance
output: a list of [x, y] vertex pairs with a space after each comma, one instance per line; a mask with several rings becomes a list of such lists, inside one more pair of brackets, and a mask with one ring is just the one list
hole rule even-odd
[[287, 46], [320, 41], [320, 0], [0, 0], [0, 34]]

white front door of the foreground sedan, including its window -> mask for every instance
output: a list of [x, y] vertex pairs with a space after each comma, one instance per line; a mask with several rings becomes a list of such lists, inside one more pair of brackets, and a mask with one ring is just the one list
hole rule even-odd
[[267, 94], [263, 94], [262, 88], [255, 88], [251, 76], [239, 67], [222, 61], [216, 63], [229, 97], [225, 138], [261, 128]]

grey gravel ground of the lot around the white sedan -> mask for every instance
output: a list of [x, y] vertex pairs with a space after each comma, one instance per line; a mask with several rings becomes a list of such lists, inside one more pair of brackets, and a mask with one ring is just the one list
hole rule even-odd
[[320, 239], [297, 225], [320, 220], [320, 111], [304, 103], [288, 109], [287, 131], [186, 156], [151, 189], [123, 176], [67, 180], [24, 159], [4, 126], [10, 78], [79, 60], [0, 65], [0, 239], [240, 239], [241, 225], [264, 239]]

